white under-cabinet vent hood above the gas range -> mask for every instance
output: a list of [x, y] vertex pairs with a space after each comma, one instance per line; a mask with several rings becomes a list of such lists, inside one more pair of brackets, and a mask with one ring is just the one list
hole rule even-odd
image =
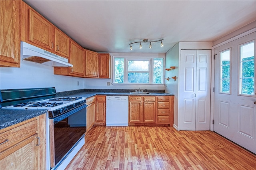
[[23, 60], [32, 61], [53, 67], [73, 67], [68, 59], [38, 48], [26, 42], [20, 43], [20, 55]]

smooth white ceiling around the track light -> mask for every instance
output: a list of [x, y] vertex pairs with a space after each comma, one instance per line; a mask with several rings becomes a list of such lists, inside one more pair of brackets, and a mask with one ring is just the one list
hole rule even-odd
[[[256, 0], [24, 0], [86, 49], [166, 53], [179, 41], [208, 42], [256, 20]], [[133, 44], [143, 39], [160, 42]]]

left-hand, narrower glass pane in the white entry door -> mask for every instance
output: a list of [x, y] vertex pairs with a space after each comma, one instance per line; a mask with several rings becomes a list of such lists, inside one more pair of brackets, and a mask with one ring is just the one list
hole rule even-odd
[[230, 49], [220, 52], [220, 93], [230, 93]]

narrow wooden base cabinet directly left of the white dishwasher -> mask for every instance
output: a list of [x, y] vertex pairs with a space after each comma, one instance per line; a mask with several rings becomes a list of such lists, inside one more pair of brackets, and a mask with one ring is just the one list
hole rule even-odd
[[96, 114], [94, 125], [106, 125], [106, 96], [96, 96]]

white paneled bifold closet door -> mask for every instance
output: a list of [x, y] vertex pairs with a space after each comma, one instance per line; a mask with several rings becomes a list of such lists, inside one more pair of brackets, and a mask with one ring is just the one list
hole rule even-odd
[[180, 130], [210, 130], [210, 66], [211, 50], [181, 50]]

